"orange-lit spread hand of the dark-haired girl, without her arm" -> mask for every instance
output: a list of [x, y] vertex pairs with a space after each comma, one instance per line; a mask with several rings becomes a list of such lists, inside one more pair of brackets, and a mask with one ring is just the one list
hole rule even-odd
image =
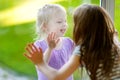
[[34, 64], [42, 64], [43, 61], [43, 53], [41, 48], [37, 48], [33, 43], [28, 44], [26, 47], [26, 51], [24, 56], [26, 56], [29, 60], [31, 60]]

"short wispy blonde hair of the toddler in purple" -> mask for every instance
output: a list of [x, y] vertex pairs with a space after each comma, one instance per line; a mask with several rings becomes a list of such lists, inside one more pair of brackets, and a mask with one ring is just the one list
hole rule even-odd
[[58, 4], [46, 4], [38, 10], [36, 19], [36, 33], [39, 39], [47, 36], [47, 34], [42, 30], [44, 24], [47, 24], [50, 21], [53, 13], [58, 13], [60, 11], [64, 11], [66, 13], [64, 7]]

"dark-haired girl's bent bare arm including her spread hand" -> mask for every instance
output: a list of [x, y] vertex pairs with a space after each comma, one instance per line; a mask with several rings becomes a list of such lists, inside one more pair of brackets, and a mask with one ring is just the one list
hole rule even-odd
[[29, 44], [26, 50], [29, 55], [25, 53], [25, 56], [30, 59], [37, 66], [37, 68], [48, 77], [49, 80], [65, 80], [80, 65], [80, 56], [72, 55], [70, 60], [57, 71], [44, 62], [42, 50], [37, 49], [34, 44]]

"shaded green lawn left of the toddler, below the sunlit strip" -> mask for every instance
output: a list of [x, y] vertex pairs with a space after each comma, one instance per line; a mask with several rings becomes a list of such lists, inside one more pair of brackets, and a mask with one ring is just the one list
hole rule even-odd
[[33, 27], [34, 23], [28, 23], [0, 28], [0, 62], [19, 73], [35, 76], [34, 65], [23, 56], [25, 46], [35, 37]]

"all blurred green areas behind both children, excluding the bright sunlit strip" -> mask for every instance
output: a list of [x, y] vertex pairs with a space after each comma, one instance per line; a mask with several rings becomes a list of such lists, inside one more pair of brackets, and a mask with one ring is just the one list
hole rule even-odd
[[[11, 0], [0, 0], [0, 5], [2, 5], [0, 6], [1, 11], [24, 2], [24, 0], [12, 0], [12, 2], [9, 1]], [[72, 13], [75, 7], [79, 6], [82, 1], [83, 0], [65, 0], [57, 2], [66, 8], [68, 14], [68, 30], [65, 36], [72, 38]], [[99, 5], [99, 0], [92, 0], [91, 2]], [[120, 0], [116, 1], [115, 8], [115, 26], [120, 32]], [[20, 74], [37, 77], [34, 65], [23, 56], [25, 51], [24, 48], [27, 43], [33, 42], [36, 37], [34, 30], [35, 22], [14, 26], [0, 26], [0, 63], [2, 63], [2, 65], [13, 69]], [[74, 76], [75, 80], [78, 80], [78, 72], [75, 72]]]

